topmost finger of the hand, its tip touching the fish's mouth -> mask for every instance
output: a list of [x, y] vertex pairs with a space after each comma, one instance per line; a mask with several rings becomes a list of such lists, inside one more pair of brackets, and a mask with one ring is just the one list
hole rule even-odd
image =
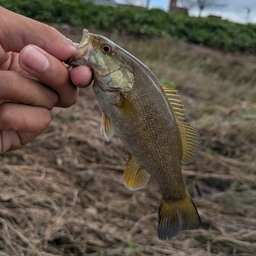
[[34, 44], [64, 61], [75, 47], [53, 27], [0, 6], [0, 44], [6, 52], [20, 52], [23, 47]]

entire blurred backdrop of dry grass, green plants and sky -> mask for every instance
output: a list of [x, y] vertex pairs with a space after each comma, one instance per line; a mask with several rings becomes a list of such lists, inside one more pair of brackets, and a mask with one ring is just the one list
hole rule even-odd
[[202, 226], [160, 241], [156, 181], [136, 192], [123, 186], [127, 152], [100, 135], [92, 88], [80, 90], [77, 104], [52, 111], [42, 135], [0, 155], [1, 256], [256, 255], [255, 1], [0, 5], [74, 42], [83, 28], [109, 37], [179, 91], [202, 139], [182, 167]]

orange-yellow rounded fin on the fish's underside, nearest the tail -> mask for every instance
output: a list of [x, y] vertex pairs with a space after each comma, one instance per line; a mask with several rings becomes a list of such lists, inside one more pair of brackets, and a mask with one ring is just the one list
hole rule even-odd
[[123, 182], [129, 190], [138, 190], [146, 186], [150, 174], [140, 167], [140, 164], [129, 154], [123, 174]]

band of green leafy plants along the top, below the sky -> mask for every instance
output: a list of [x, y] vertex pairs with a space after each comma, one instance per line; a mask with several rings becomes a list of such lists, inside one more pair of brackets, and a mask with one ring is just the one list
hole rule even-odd
[[160, 9], [94, 5], [82, 0], [0, 0], [12, 11], [51, 23], [67, 23], [111, 33], [171, 37], [221, 51], [256, 53], [256, 25], [196, 18]]

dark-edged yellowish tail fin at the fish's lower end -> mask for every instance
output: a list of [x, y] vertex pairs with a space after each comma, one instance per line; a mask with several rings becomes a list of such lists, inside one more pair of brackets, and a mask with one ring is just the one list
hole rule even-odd
[[179, 201], [167, 202], [163, 198], [158, 211], [158, 237], [161, 240], [171, 239], [181, 230], [198, 229], [200, 216], [189, 193]]

